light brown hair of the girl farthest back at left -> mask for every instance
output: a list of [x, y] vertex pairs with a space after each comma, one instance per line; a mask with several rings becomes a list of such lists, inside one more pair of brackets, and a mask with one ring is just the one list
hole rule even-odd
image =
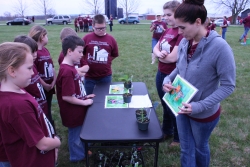
[[33, 38], [36, 42], [41, 42], [42, 37], [47, 34], [47, 30], [42, 26], [35, 25], [29, 31], [29, 37]]

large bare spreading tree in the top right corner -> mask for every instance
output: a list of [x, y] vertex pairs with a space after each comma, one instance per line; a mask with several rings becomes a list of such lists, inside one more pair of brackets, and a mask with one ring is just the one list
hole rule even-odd
[[240, 12], [250, 4], [250, 0], [213, 0], [218, 8], [225, 8], [232, 13], [232, 24], [236, 23], [236, 19]]

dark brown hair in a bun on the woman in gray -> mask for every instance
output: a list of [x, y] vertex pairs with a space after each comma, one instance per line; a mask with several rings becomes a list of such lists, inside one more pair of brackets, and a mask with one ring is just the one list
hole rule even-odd
[[174, 17], [190, 24], [200, 18], [201, 23], [205, 23], [207, 10], [204, 6], [204, 0], [183, 0], [182, 4], [176, 9]]

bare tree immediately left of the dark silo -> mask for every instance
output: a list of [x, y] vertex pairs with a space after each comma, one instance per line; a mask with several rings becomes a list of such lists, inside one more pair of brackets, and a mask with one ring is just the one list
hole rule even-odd
[[100, 14], [104, 9], [104, 0], [83, 0], [83, 7], [89, 14]]

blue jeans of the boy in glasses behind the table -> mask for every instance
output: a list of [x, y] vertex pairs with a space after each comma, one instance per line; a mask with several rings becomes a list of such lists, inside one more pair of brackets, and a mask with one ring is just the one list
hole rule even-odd
[[87, 95], [92, 94], [95, 88], [95, 85], [98, 83], [110, 83], [112, 81], [112, 75], [103, 77], [101, 79], [87, 79], [84, 80], [84, 87]]

